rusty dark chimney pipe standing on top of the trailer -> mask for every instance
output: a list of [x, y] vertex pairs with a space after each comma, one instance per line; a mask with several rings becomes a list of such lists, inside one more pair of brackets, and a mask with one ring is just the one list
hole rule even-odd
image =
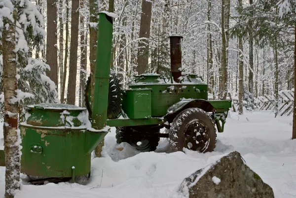
[[179, 77], [182, 75], [182, 51], [181, 39], [182, 36], [170, 36], [171, 46], [171, 72], [175, 82], [179, 82]]

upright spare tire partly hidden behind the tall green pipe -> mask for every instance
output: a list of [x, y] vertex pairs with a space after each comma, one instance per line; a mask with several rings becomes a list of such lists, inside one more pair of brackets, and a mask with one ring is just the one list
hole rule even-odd
[[[89, 119], [92, 115], [92, 104], [91, 104], [91, 77], [89, 76], [86, 81], [85, 87], [85, 107], [89, 114]], [[121, 112], [122, 105], [122, 90], [121, 85], [119, 84], [119, 79], [117, 78], [116, 73], [110, 71], [109, 79], [109, 94], [108, 94], [108, 109], [107, 109], [107, 119], [116, 119]]]

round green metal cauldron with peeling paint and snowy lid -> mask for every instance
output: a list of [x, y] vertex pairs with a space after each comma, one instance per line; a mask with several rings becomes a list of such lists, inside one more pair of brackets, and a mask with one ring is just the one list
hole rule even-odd
[[29, 106], [20, 123], [21, 172], [44, 178], [89, 173], [91, 151], [107, 132], [86, 130], [86, 111], [64, 104]]

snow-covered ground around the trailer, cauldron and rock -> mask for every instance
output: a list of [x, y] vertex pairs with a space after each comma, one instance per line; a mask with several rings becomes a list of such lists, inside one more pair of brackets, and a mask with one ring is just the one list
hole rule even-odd
[[[176, 189], [186, 176], [231, 151], [241, 153], [273, 188], [276, 198], [296, 198], [296, 140], [291, 135], [292, 117], [230, 112], [215, 152], [171, 153], [167, 140], [162, 139], [156, 152], [139, 153], [128, 144], [117, 145], [112, 129], [105, 139], [104, 157], [92, 160], [89, 181], [43, 186], [23, 182], [16, 198], [179, 198]], [[0, 167], [0, 196], [4, 194], [4, 170]]]

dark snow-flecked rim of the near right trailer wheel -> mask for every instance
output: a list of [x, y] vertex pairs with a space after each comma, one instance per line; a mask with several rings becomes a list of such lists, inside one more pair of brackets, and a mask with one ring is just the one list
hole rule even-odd
[[185, 146], [189, 150], [203, 151], [209, 145], [209, 128], [200, 119], [187, 123], [184, 132]]

